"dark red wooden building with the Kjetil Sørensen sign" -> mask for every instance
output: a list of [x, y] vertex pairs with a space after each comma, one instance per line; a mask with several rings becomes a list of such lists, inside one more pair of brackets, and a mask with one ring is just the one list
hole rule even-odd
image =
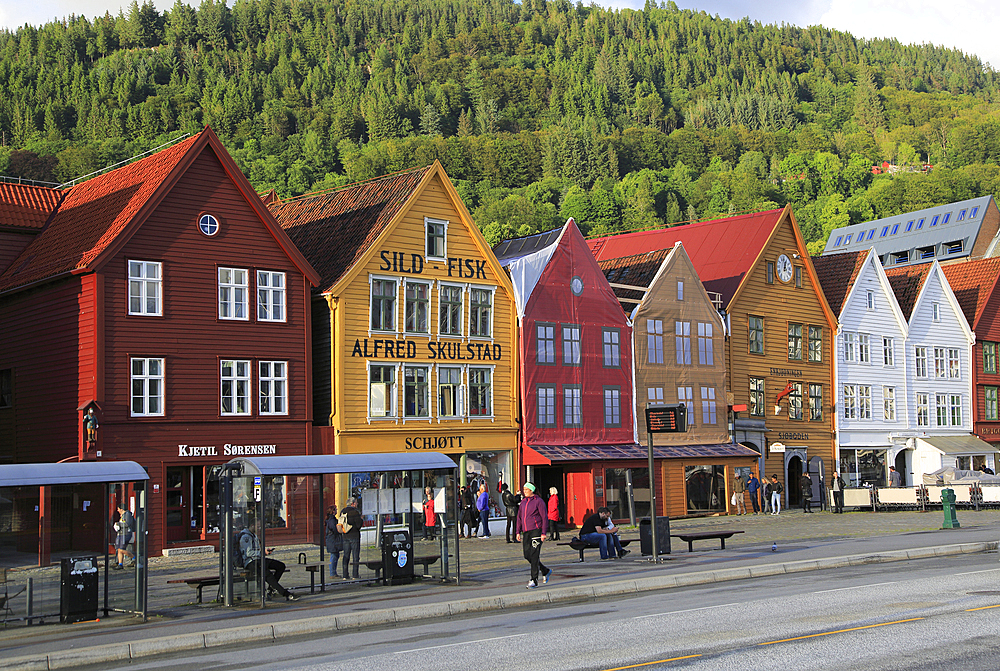
[[[0, 460], [137, 461], [150, 553], [213, 544], [218, 466], [311, 451], [316, 272], [208, 128], [68, 188], [0, 195]], [[300, 483], [265, 484], [269, 537], [303, 536]], [[52, 496], [52, 549], [91, 544], [82, 502]]]

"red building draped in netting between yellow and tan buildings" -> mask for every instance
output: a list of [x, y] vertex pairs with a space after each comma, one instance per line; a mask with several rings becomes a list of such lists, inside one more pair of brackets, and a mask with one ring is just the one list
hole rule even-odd
[[494, 252], [517, 301], [526, 476], [543, 496], [556, 487], [562, 519], [582, 524], [605, 505], [609, 461], [641, 455], [632, 327], [572, 219]]

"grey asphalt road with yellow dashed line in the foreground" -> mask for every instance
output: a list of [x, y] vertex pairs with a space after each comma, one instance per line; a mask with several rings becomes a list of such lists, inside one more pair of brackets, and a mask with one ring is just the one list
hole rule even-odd
[[992, 671], [998, 615], [1000, 563], [985, 553], [185, 652], [128, 668]]

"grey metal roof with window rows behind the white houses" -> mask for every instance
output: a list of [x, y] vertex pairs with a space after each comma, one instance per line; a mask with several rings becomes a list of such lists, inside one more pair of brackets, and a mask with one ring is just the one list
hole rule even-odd
[[[885, 266], [968, 257], [992, 198], [970, 198], [835, 229], [823, 255], [874, 248]], [[949, 248], [951, 243], [961, 244]]]

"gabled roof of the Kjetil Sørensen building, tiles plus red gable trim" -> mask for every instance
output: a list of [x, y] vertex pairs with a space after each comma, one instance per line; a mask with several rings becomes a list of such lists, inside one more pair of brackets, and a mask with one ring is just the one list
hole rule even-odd
[[124, 245], [187, 168], [211, 150], [288, 257], [314, 284], [305, 258], [268, 213], [211, 128], [66, 192], [48, 226], [0, 275], [0, 292], [66, 274], [94, 272]]

